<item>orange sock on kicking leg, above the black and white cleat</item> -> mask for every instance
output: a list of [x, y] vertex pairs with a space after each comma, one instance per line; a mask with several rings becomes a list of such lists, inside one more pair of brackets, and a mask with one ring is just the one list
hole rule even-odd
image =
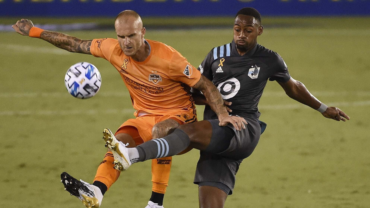
[[100, 181], [109, 187], [117, 181], [120, 176], [120, 171], [113, 168], [114, 157], [112, 152], [107, 152], [104, 156], [104, 160], [100, 163], [94, 181]]

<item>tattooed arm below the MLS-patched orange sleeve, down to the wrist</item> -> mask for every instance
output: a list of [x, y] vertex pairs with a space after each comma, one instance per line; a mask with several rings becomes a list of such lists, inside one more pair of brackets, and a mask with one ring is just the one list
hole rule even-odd
[[203, 93], [204, 97], [206, 97], [208, 101], [209, 106], [217, 115], [222, 113], [228, 114], [228, 111], [223, 104], [221, 93], [205, 76], [202, 75], [201, 79], [193, 87]]

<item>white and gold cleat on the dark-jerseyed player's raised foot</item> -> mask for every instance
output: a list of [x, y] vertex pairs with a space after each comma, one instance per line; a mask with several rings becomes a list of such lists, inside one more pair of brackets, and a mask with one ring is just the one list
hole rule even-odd
[[105, 147], [108, 147], [114, 157], [114, 169], [118, 171], [124, 171], [130, 167], [131, 162], [128, 157], [128, 148], [127, 144], [123, 144], [121, 141], [118, 141], [114, 134], [108, 128], [105, 128], [103, 131], [103, 140], [105, 141]]

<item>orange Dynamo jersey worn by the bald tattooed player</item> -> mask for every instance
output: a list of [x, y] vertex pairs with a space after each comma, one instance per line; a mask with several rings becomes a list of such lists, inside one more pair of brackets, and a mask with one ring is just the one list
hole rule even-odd
[[145, 41], [150, 53], [142, 62], [126, 56], [114, 38], [92, 40], [90, 51], [117, 69], [135, 110], [164, 115], [195, 109], [189, 90], [199, 81], [201, 73], [171, 46]]

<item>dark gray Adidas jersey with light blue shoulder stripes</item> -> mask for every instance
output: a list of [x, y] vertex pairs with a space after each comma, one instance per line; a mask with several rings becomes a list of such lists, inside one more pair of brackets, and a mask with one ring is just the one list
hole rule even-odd
[[[232, 102], [232, 114], [258, 118], [258, 102], [267, 80], [286, 82], [290, 79], [283, 58], [259, 44], [240, 56], [235, 42], [213, 48], [199, 65], [198, 70], [216, 85], [222, 98]], [[215, 119], [209, 106], [204, 119]]]

